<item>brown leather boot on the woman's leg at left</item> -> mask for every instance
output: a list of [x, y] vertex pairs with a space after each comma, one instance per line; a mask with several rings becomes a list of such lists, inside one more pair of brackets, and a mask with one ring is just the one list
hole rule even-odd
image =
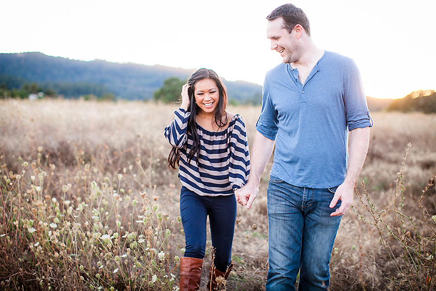
[[197, 291], [202, 279], [202, 259], [180, 258], [180, 291]]

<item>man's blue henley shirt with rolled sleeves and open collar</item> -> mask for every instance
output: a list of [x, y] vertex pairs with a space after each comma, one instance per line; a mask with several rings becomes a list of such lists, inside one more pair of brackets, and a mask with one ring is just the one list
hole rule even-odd
[[325, 51], [304, 84], [289, 64], [266, 73], [256, 129], [276, 141], [271, 176], [298, 187], [339, 186], [347, 169], [348, 131], [371, 126], [352, 59]]

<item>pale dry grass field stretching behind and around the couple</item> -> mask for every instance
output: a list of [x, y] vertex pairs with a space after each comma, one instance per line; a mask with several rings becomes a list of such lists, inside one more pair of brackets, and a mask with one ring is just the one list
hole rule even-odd
[[[28, 165], [24, 168], [26, 173], [21, 173], [19, 179], [21, 195], [22, 197], [29, 195], [26, 192], [31, 189], [31, 176], [35, 177], [34, 185], [39, 185], [38, 174], [44, 171], [47, 176], [44, 178], [44, 193], [41, 195], [44, 197], [43, 201], [45, 201], [46, 207], [53, 208], [51, 198], [54, 197], [59, 202], [60, 210], [62, 210], [63, 201], [66, 203], [70, 201], [69, 206], [74, 204], [72, 206], [73, 210], [78, 211], [76, 210], [78, 204], [88, 203], [86, 199], [90, 199], [89, 196], [95, 192], [91, 183], [92, 181], [96, 182], [100, 191], [104, 192], [104, 197], [98, 194], [98, 200], [101, 200], [100, 208], [104, 208], [105, 211], [110, 213], [108, 215], [100, 213], [103, 219], [107, 219], [107, 222], [101, 221], [102, 225], [108, 226], [107, 231], [112, 231], [111, 236], [118, 231], [117, 220], [124, 227], [118, 232], [119, 240], [123, 244], [125, 243], [125, 248], [119, 255], [120, 259], [127, 252], [127, 248], [131, 249], [129, 256], [122, 260], [125, 269], [125, 259], [131, 258], [133, 254], [133, 248], [130, 247], [129, 242], [126, 242], [126, 238], [122, 238], [125, 231], [130, 227], [129, 233], [137, 231], [138, 237], [135, 240], [139, 242], [141, 239], [139, 238], [141, 232], [136, 221], [142, 219], [133, 216], [135, 196], [138, 196], [135, 211], [139, 211], [140, 215], [144, 215], [144, 212], [141, 211], [144, 206], [150, 207], [153, 212], [154, 205], [158, 205], [156, 212], [170, 213], [170, 218], [167, 220], [168, 229], [171, 230], [171, 238], [167, 240], [167, 242], [171, 243], [170, 259], [173, 261], [173, 257], [183, 256], [180, 245], [184, 247], [184, 235], [181, 233], [181, 224], [176, 220], [176, 217], [180, 215], [180, 182], [177, 174], [166, 167], [166, 159], [171, 148], [162, 132], [171, 121], [171, 114], [178, 107], [176, 104], [156, 105], [152, 102], [124, 102], [121, 100], [116, 103], [51, 99], [38, 100], [37, 102], [16, 99], [0, 100], [0, 166], [7, 164], [5, 169], [0, 168], [0, 183], [2, 183], [0, 187], [0, 290], [23, 290], [23, 286], [24, 290], [48, 290], [48, 283], [53, 290], [90, 290], [93, 287], [88, 287], [87, 284], [89, 284], [91, 278], [88, 278], [84, 272], [80, 272], [80, 275], [85, 280], [81, 281], [78, 276], [77, 269], [80, 268], [80, 264], [83, 266], [84, 271], [92, 276], [92, 282], [94, 282], [95, 286], [97, 286], [96, 282], [98, 282], [98, 278], [95, 276], [96, 273], [103, 272], [102, 270], [105, 268], [108, 269], [108, 272], [113, 272], [116, 268], [119, 268], [115, 266], [109, 266], [109, 268], [105, 265], [102, 269], [98, 269], [97, 262], [101, 259], [95, 256], [100, 257], [101, 251], [97, 254], [98, 249], [94, 248], [93, 253], [97, 255], [93, 255], [93, 265], [91, 266], [85, 264], [82, 254], [76, 256], [71, 247], [67, 248], [69, 250], [67, 256], [62, 257], [60, 251], [57, 251], [60, 256], [56, 258], [53, 252], [46, 251], [46, 257], [36, 258], [29, 248], [30, 233], [26, 229], [23, 231], [22, 226], [20, 226], [18, 234], [21, 234], [22, 237], [15, 236], [17, 228], [14, 228], [14, 231], [9, 229], [16, 227], [12, 223], [16, 221], [16, 218], [11, 217], [11, 215], [17, 215], [17, 213], [13, 213], [14, 208], [17, 207], [16, 211], [21, 212], [20, 215], [23, 219], [34, 220], [32, 227], [40, 231], [36, 226], [39, 222], [36, 222], [32, 217], [29, 218], [29, 213], [24, 216], [23, 213], [28, 208], [37, 209], [44, 206], [31, 205], [24, 198], [21, 198], [21, 207], [18, 208], [16, 203], [18, 200], [16, 196], [13, 197], [16, 194], [10, 194], [8, 197], [9, 192], [15, 192], [10, 188], [5, 188], [4, 176], [9, 177], [10, 182], [15, 183], [15, 189], [17, 190], [17, 181], [13, 177], [21, 173], [22, 164], [25, 161], [28, 162]], [[261, 108], [249, 106], [229, 106], [229, 108], [231, 112], [239, 113], [244, 118], [248, 130], [249, 144], [251, 145], [251, 138], [254, 136], [255, 125]], [[414, 150], [408, 156], [405, 169], [407, 178], [405, 186], [407, 189], [405, 191], [405, 207], [402, 211], [408, 217], [415, 217], [413, 222], [417, 224], [417, 227], [421, 227], [422, 215], [417, 202], [420, 191], [428, 184], [429, 178], [435, 171], [436, 131], [429, 129], [432, 129], [436, 124], [436, 114], [374, 112], [372, 117], [374, 127], [371, 129], [370, 151], [360, 175], [362, 179], [367, 181], [366, 187], [371, 194], [371, 202], [379, 210], [383, 210], [388, 204], [390, 205], [393, 200], [392, 189], [395, 187], [393, 185], [391, 188], [390, 184], [397, 176], [398, 161], [402, 156], [401, 152], [403, 152], [403, 148], [408, 142], [412, 142]], [[37, 166], [34, 170], [32, 164], [37, 161], [38, 146], [43, 147], [40, 152], [41, 166]], [[1, 157], [2, 155], [4, 157]], [[49, 158], [47, 158], [47, 155]], [[23, 157], [21, 162], [18, 161], [18, 156]], [[50, 164], [53, 166], [50, 166]], [[37, 164], [34, 163], [34, 165]], [[146, 176], [144, 176], [140, 165], [143, 167]], [[266, 189], [269, 180], [269, 176], [266, 174], [269, 173], [271, 165], [272, 159], [268, 162], [268, 169], [265, 170], [265, 175], [261, 179], [259, 186], [261, 194], [256, 198], [252, 208], [250, 210], [238, 209], [238, 223], [235, 227], [234, 247], [232, 249], [232, 259], [234, 261], [232, 273], [234, 274], [227, 280], [226, 289], [228, 291], [265, 291], [266, 272], [268, 270]], [[12, 175], [9, 174], [11, 171], [13, 172]], [[39, 172], [35, 174], [34, 171]], [[118, 179], [118, 174], [123, 175], [121, 182]], [[86, 178], [86, 181], [84, 178]], [[107, 184], [106, 189], [103, 189], [103, 183]], [[118, 187], [119, 183], [121, 184]], [[156, 190], [154, 185], [157, 185]], [[65, 193], [62, 186], [68, 186]], [[118, 214], [120, 215], [118, 219], [114, 214], [116, 208], [111, 205], [112, 201], [116, 199], [110, 197], [110, 187], [113, 188], [110, 195], [113, 196], [113, 190], [116, 190], [123, 199], [118, 201]], [[129, 193], [130, 189], [132, 190], [131, 193]], [[141, 194], [145, 192], [144, 199], [142, 199]], [[360, 192], [362, 193], [361, 190]], [[415, 198], [410, 198], [411, 193], [414, 193], [413, 197]], [[425, 208], [427, 208], [431, 215], [436, 214], [435, 196], [431, 196], [434, 194], [435, 186], [432, 186], [426, 192], [426, 197], [421, 203], [424, 213], [426, 213]], [[48, 196], [47, 199], [45, 198], [46, 195]], [[153, 196], [156, 197], [153, 198]], [[157, 198], [157, 196], [160, 198]], [[400, 203], [400, 196], [397, 198], [397, 204]], [[81, 198], [80, 202], [78, 202], [78, 197]], [[149, 199], [148, 204], [145, 201], [146, 198]], [[96, 208], [96, 199], [93, 200], [93, 208]], [[104, 205], [105, 200], [109, 203], [107, 206]], [[413, 201], [415, 203], [412, 203]], [[4, 206], [9, 205], [8, 203], [13, 203], [14, 206]], [[69, 206], [64, 208], [64, 213]], [[88, 213], [87, 217], [91, 217], [89, 206], [88, 203], [88, 206], [85, 206], [83, 210], [83, 212]], [[24, 210], [21, 208], [24, 208]], [[366, 212], [360, 203], [355, 203], [355, 208], [360, 214]], [[7, 212], [4, 213], [4, 211]], [[26, 211], [30, 212], [29, 210]], [[153, 212], [152, 218], [154, 225], [157, 227], [159, 222], [157, 221], [156, 212]], [[393, 213], [389, 212], [384, 217], [392, 217], [392, 215]], [[369, 217], [368, 214], [365, 214], [365, 216]], [[53, 219], [54, 217], [51, 218], [51, 220]], [[68, 219], [71, 220], [72, 218]], [[79, 220], [78, 223], [81, 224], [80, 232], [83, 231], [85, 235], [87, 231], [92, 232], [86, 229], [86, 227], [89, 227], [85, 225], [86, 221], [82, 221], [79, 217], [77, 219]], [[48, 219], [45, 218], [44, 221], [46, 220]], [[62, 219], [60, 220], [62, 221]], [[91, 218], [88, 218], [88, 220], [93, 222]], [[175, 221], [173, 226], [171, 226], [171, 220]], [[132, 221], [133, 224], [129, 226], [128, 222]], [[389, 223], [393, 223], [393, 221], [393, 218], [387, 220]], [[427, 221], [429, 220], [427, 219]], [[50, 227], [50, 223], [52, 221], [48, 223], [47, 227]], [[405, 224], [408, 223], [408, 220], [405, 219]], [[256, 224], [257, 227], [252, 227], [253, 224]], [[55, 230], [59, 232], [62, 227], [59, 223]], [[409, 225], [405, 227], [410, 228]], [[162, 229], [164, 230], [165, 227], [162, 227]], [[101, 230], [96, 232], [100, 232], [101, 237], [104, 234], [109, 234]], [[37, 233], [37, 231], [33, 232], [33, 234]], [[428, 234], [427, 228], [425, 233]], [[175, 237], [172, 238], [172, 235]], [[411, 231], [411, 235], [414, 235], [413, 231]], [[10, 238], [9, 242], [13, 244], [8, 245], [7, 236]], [[388, 235], [386, 234], [386, 236]], [[409, 289], [401, 279], [397, 268], [389, 259], [383, 246], [377, 242], [378, 238], [379, 234], [376, 228], [366, 224], [352, 211], [344, 215], [335, 242], [335, 248], [337, 249], [333, 252], [332, 262], [330, 263], [330, 272], [332, 273], [331, 290], [363, 290], [362, 281], [365, 284], [365, 291]], [[101, 242], [101, 239], [97, 241]], [[115, 238], [111, 239], [111, 241], [114, 244]], [[78, 250], [90, 251], [88, 246], [82, 247], [80, 243], [78, 242]], [[38, 241], [35, 241], [34, 244], [36, 244], [35, 248], [41, 246], [41, 242], [38, 244]], [[97, 248], [101, 247], [95, 242], [93, 244]], [[400, 257], [404, 253], [401, 243], [392, 238], [389, 244], [398, 262], [404, 266], [403, 259]], [[145, 242], [142, 245], [143, 248], [147, 247]], [[208, 239], [207, 245], [211, 245], [210, 239]], [[111, 249], [114, 249], [114, 247]], [[159, 252], [161, 251], [159, 250]], [[71, 257], [73, 263], [66, 257]], [[76, 261], [76, 258], [80, 260]], [[50, 261], [50, 259], [53, 261]], [[209, 266], [211, 263], [209, 247], [206, 248], [205, 260], [205, 266]], [[105, 262], [105, 260], [102, 260], [102, 263]], [[93, 267], [95, 270], [93, 270]], [[129, 265], [130, 267], [131, 265]], [[206, 271], [202, 274], [202, 286], [207, 283], [209, 271], [209, 268], [204, 269]], [[110, 287], [119, 291], [126, 290], [125, 286], [128, 286], [125, 277], [120, 273], [121, 270], [119, 268], [118, 273], [111, 275], [113, 280], [111, 284], [113, 285]], [[138, 268], [138, 270], [143, 269]], [[143, 277], [143, 273], [143, 271], [140, 271], [136, 279], [137, 282]], [[176, 275], [177, 280], [178, 271], [172, 274]], [[395, 282], [391, 280], [392, 277], [400, 279]], [[151, 278], [153, 279], [153, 277]], [[169, 275], [169, 278], [171, 278], [171, 275]], [[43, 287], [39, 285], [40, 281], [38, 279], [43, 280]], [[433, 280], [434, 278], [431, 282]], [[3, 281], [4, 285], [1, 285], [1, 281]], [[101, 280], [99, 284], [100, 289], [110, 290], [110, 287], [102, 284]], [[130, 290], [133, 290], [133, 283], [130, 286]], [[432, 286], [434, 287], [434, 285]], [[148, 282], [144, 282], [143, 287], [143, 290], [150, 291], [161, 288], [159, 287], [159, 275], [156, 275], [156, 282], [153, 283], [153, 286], [149, 286]], [[427, 286], [424, 286], [423, 290], [426, 290], [426, 288]]]

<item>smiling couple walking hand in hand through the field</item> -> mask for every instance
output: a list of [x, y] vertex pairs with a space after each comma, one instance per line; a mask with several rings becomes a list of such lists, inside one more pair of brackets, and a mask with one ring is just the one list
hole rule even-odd
[[298, 273], [299, 291], [329, 286], [331, 251], [366, 157], [372, 119], [356, 64], [318, 49], [300, 8], [284, 4], [266, 18], [271, 49], [282, 63], [266, 73], [251, 162], [244, 121], [226, 111], [226, 88], [213, 70], [192, 74], [165, 129], [169, 164], [182, 183], [181, 291], [200, 289], [207, 216], [215, 256], [206, 290], [217, 290], [218, 277], [228, 278], [237, 203], [251, 207], [274, 146], [266, 290], [295, 290]]

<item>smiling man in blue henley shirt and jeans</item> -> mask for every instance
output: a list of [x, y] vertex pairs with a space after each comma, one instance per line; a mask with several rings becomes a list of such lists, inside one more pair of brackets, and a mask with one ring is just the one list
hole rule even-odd
[[354, 61], [318, 49], [301, 9], [285, 4], [267, 19], [271, 49], [283, 64], [266, 73], [251, 173], [236, 199], [251, 207], [275, 144], [266, 290], [295, 290], [298, 272], [298, 290], [326, 290], [331, 250], [351, 205], [372, 120]]

